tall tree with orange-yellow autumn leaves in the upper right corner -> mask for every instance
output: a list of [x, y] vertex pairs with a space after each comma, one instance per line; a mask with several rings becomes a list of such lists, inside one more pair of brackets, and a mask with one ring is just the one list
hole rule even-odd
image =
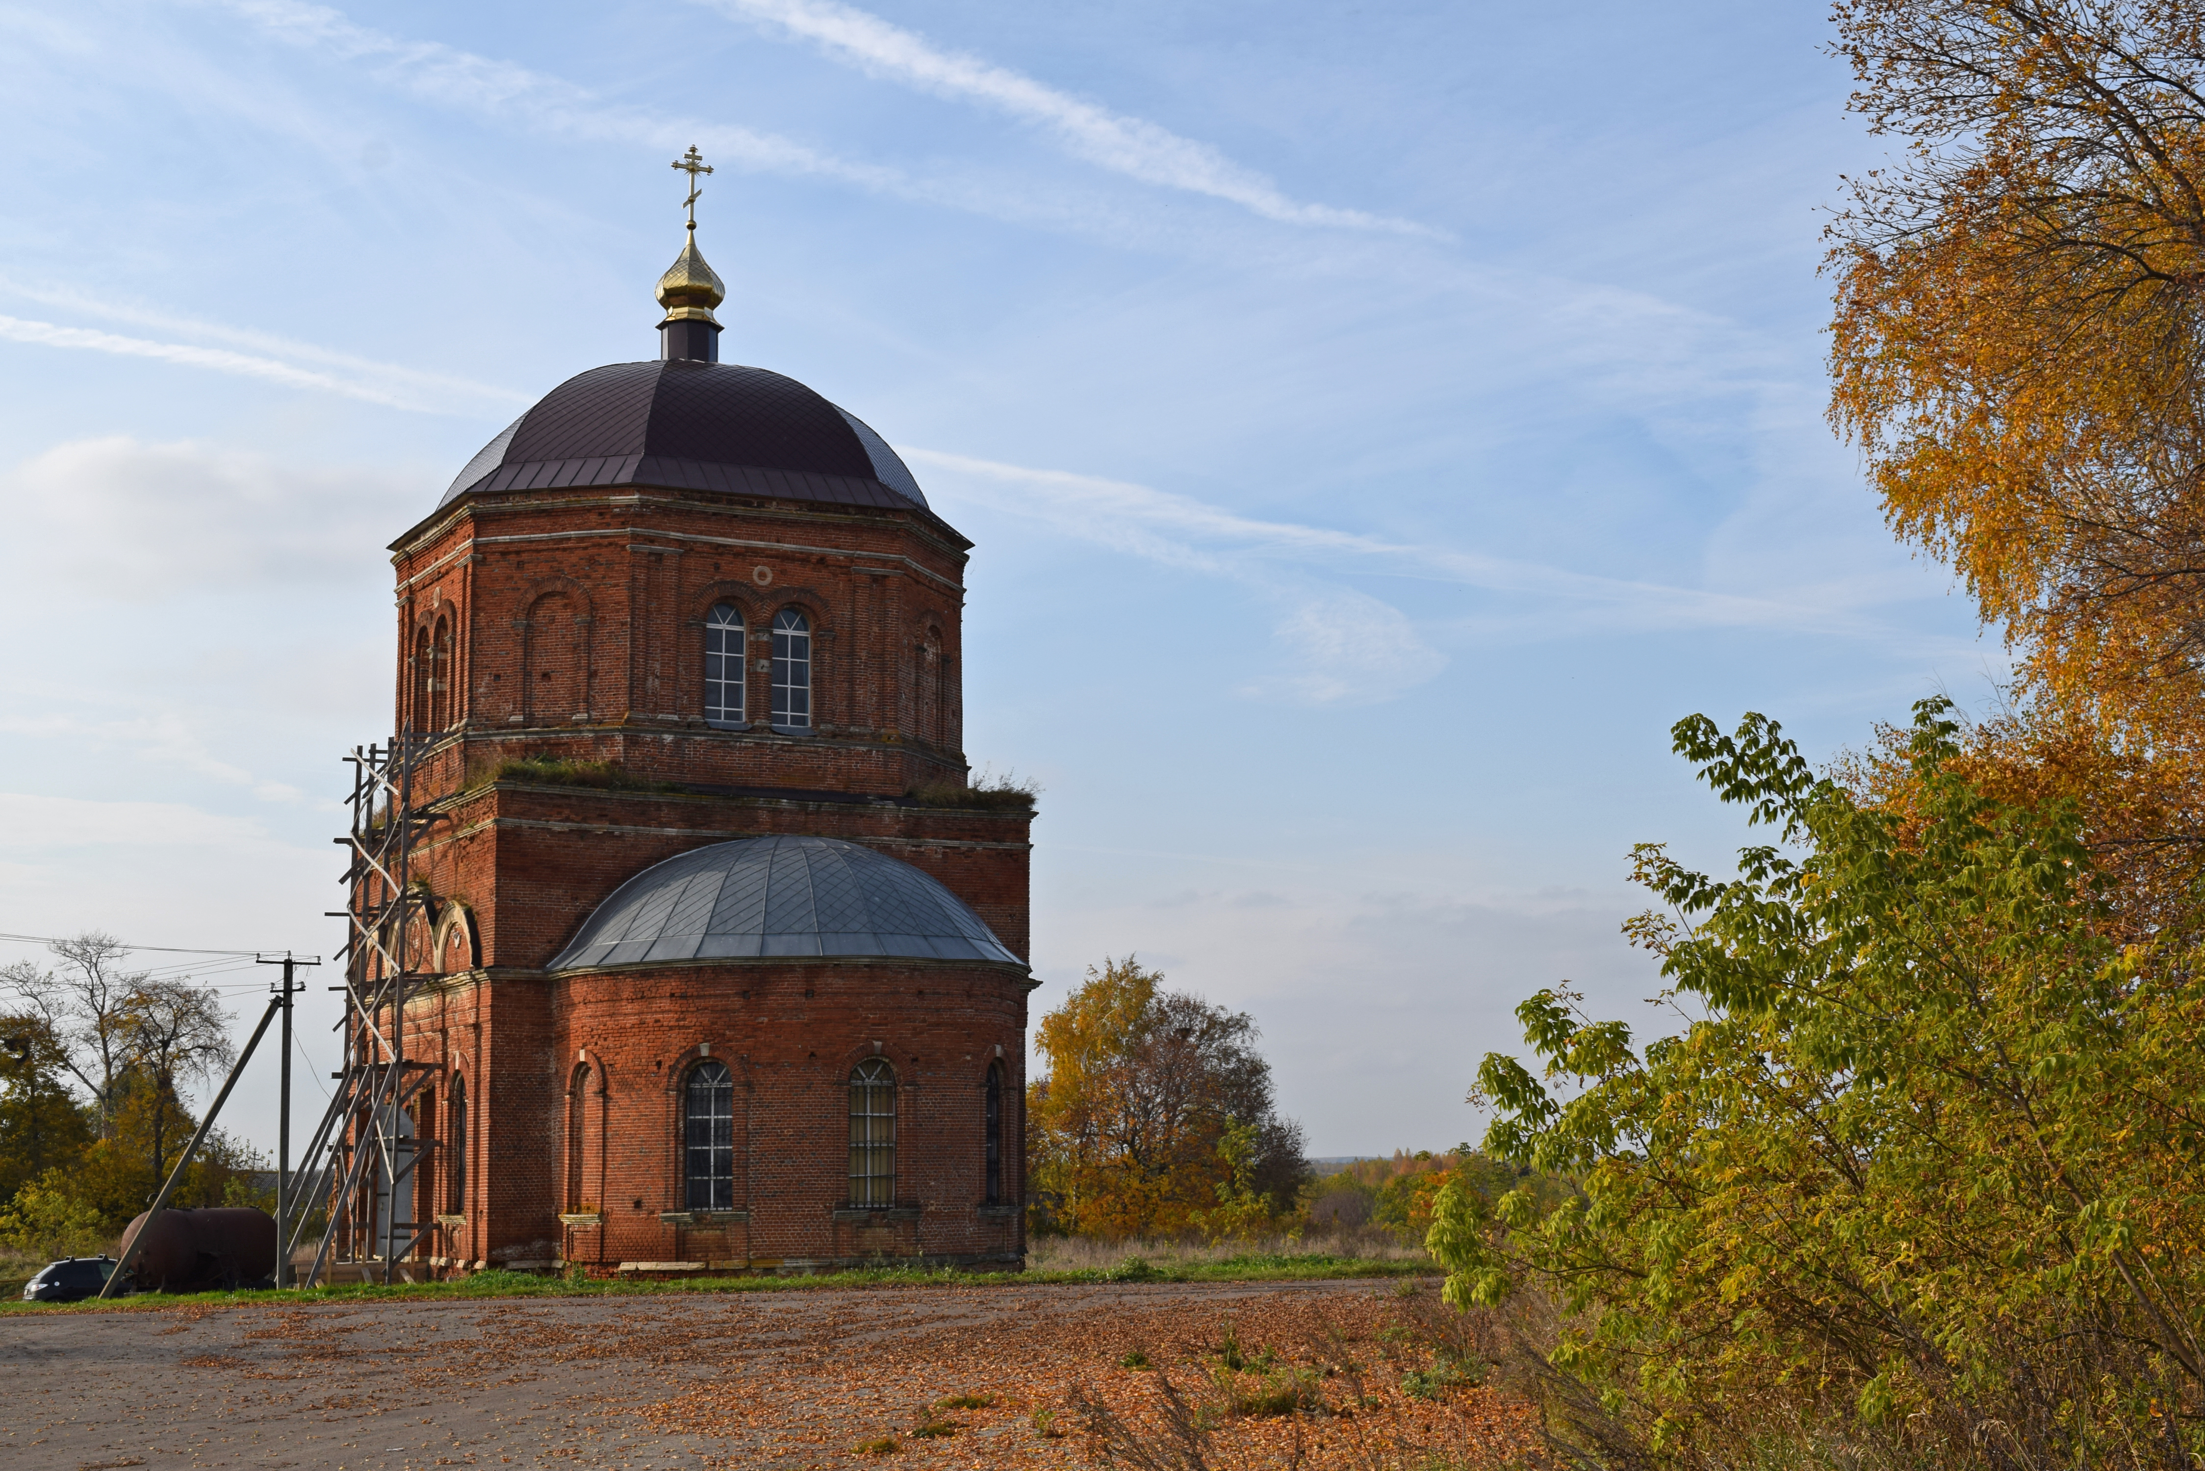
[[2196, 750], [2205, 670], [2205, 9], [1841, 0], [1903, 143], [1832, 223], [1830, 415], [2024, 692]]

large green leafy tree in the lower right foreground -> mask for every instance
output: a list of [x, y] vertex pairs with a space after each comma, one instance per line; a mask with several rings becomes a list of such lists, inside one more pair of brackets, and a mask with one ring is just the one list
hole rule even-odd
[[1458, 1306], [1555, 1301], [1588, 1462], [2205, 1451], [2198, 957], [2121, 942], [2073, 809], [1989, 796], [1956, 734], [1918, 706], [1865, 805], [1773, 721], [1678, 723], [1779, 834], [1727, 882], [1636, 851], [1687, 1026], [1636, 1048], [1541, 990], [1546, 1076], [1484, 1061], [1486, 1151], [1577, 1189], [1442, 1191], [1427, 1244]]

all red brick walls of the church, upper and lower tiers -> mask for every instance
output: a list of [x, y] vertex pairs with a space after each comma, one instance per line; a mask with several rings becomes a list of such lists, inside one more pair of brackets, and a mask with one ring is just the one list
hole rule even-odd
[[[392, 547], [399, 726], [441, 732], [417, 787], [437, 814], [415, 853], [437, 911], [417, 953], [450, 975], [408, 1008], [406, 1045], [443, 1070], [421, 1136], [448, 1134], [454, 1076], [472, 1136], [465, 1224], [439, 1228], [421, 1255], [754, 1268], [1023, 1255], [1032, 984], [1021, 970], [922, 959], [542, 970], [642, 869], [763, 834], [847, 838], [911, 862], [1025, 955], [1030, 814], [904, 796], [964, 783], [966, 549], [908, 512], [657, 490], [472, 498]], [[703, 723], [717, 602], [741, 609], [752, 635], [783, 606], [807, 613], [811, 734], [765, 728], [770, 644], [756, 637], [752, 728]], [[509, 756], [606, 761], [688, 790], [483, 781]], [[849, 1072], [873, 1043], [897, 1076], [897, 1206], [838, 1217]], [[681, 1078], [703, 1045], [736, 1076], [747, 1211], [717, 1231], [659, 1220], [684, 1206]], [[997, 1061], [1012, 1206], [983, 1211], [983, 1085]], [[450, 1153], [426, 1158], [421, 1220], [450, 1213], [452, 1191]], [[602, 1224], [562, 1224], [578, 1200]]]

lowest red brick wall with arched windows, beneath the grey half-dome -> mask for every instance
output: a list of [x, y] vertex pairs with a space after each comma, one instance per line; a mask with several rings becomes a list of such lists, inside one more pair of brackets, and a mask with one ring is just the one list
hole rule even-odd
[[[1014, 1204], [1025, 1189], [1028, 990], [1010, 966], [902, 959], [454, 977], [408, 1010], [408, 1054], [465, 1076], [474, 1120], [467, 1224], [423, 1255], [747, 1268], [1014, 1259], [1023, 1215], [981, 1209], [983, 1087], [1001, 1065], [1001, 1200]], [[897, 1211], [838, 1220], [849, 1074], [875, 1056], [873, 1043], [897, 1081]], [[701, 1048], [736, 1081], [734, 1204], [747, 1220], [719, 1231], [659, 1220], [686, 1211], [681, 1089]], [[450, 1087], [437, 1098], [448, 1103]], [[441, 1125], [423, 1118], [421, 1134], [441, 1138]], [[417, 1189], [443, 1211], [450, 1156], [430, 1158]], [[584, 1202], [602, 1226], [558, 1220]]]

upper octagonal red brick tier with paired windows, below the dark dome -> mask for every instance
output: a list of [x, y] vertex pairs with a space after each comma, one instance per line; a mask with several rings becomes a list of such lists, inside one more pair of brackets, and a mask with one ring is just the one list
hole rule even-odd
[[[886, 796], [964, 776], [966, 543], [915, 512], [525, 492], [470, 498], [395, 554], [397, 721], [465, 737], [439, 767], [445, 787], [470, 761], [507, 754]], [[719, 602], [750, 631], [752, 732], [703, 723], [703, 626]], [[814, 734], [794, 741], [765, 730], [770, 673], [759, 668], [787, 606], [814, 633]], [[456, 624], [445, 657], [419, 637], [439, 620]], [[437, 664], [428, 677], [421, 659]], [[609, 730], [686, 739], [615, 752], [598, 743]]]

